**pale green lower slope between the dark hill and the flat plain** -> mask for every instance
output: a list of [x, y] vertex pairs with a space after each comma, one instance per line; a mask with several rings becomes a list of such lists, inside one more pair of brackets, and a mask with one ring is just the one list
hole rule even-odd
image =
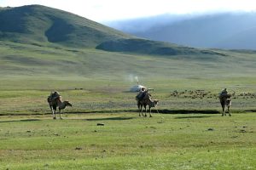
[[140, 82], [181, 80], [184, 86], [190, 81], [212, 83], [211, 86], [219, 86], [218, 82], [238, 82], [236, 86], [240, 86], [244, 80], [253, 81], [255, 77], [255, 54], [220, 51], [227, 56], [159, 56], [110, 53], [88, 48], [38, 47], [12, 42], [0, 44], [0, 75], [8, 82], [19, 81], [20, 78], [38, 81], [38, 77], [43, 81], [129, 82], [131, 77], [139, 77]]

